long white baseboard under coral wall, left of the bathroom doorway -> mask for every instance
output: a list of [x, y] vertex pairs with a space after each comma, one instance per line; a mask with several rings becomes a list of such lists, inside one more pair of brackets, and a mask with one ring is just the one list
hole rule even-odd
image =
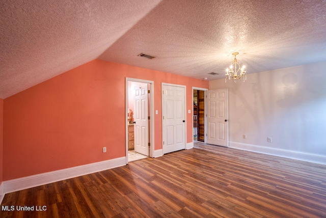
[[126, 157], [4, 181], [4, 194], [126, 165]]

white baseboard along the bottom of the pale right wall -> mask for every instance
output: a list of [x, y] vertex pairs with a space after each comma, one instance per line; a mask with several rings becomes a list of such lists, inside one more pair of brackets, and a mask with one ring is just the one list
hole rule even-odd
[[291, 150], [285, 150], [280, 148], [268, 148], [268, 147], [263, 147], [258, 145], [250, 145], [250, 144], [243, 144], [237, 142], [229, 142], [229, 147], [241, 149], [241, 150], [253, 151], [257, 153], [270, 154], [270, 155], [275, 155], [280, 157], [287, 157], [287, 158], [292, 158], [297, 160], [305, 160], [309, 162], [326, 164], [326, 156], [319, 155], [319, 154], [300, 152], [300, 151], [291, 151]]

